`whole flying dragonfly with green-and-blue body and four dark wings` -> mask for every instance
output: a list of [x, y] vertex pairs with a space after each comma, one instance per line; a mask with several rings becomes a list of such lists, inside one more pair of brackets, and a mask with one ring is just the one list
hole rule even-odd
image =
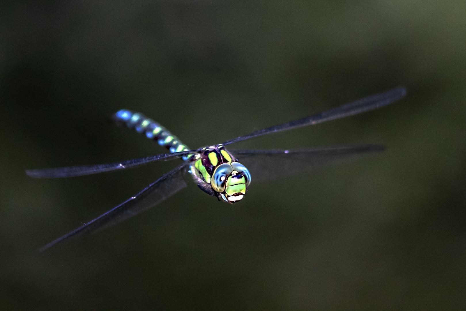
[[27, 175], [34, 178], [64, 178], [127, 169], [155, 161], [182, 159], [183, 162], [130, 199], [48, 243], [39, 251], [49, 249], [71, 237], [94, 233], [116, 225], [158, 205], [187, 187], [186, 176], [189, 175], [205, 193], [216, 197], [219, 201], [235, 204], [247, 194], [252, 180], [254, 182], [274, 180], [307, 172], [364, 153], [381, 152], [384, 150], [384, 146], [381, 145], [339, 145], [294, 150], [227, 150], [225, 146], [262, 135], [356, 115], [391, 104], [405, 95], [406, 89], [397, 87], [310, 117], [274, 125], [227, 140], [221, 144], [194, 150], [181, 143], [162, 125], [143, 114], [126, 109], [120, 110], [112, 116], [117, 125], [128, 126], [143, 133], [147, 138], [156, 140], [159, 145], [169, 149], [170, 153], [110, 164], [33, 169], [27, 170]]

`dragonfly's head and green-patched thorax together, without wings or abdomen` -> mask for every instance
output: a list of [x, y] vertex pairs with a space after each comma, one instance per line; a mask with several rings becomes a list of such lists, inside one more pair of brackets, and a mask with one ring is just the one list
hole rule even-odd
[[227, 203], [238, 202], [246, 194], [251, 174], [222, 145], [202, 148], [190, 159], [189, 172], [198, 187]]

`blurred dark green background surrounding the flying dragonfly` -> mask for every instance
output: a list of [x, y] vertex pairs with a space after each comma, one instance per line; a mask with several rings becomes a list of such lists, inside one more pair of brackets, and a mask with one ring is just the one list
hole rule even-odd
[[[466, 308], [464, 1], [2, 1], [0, 309]], [[177, 165], [61, 180], [27, 168], [192, 148], [403, 85], [377, 111], [235, 148], [377, 143], [383, 154], [252, 184], [193, 184], [38, 255]], [[254, 177], [253, 177], [254, 178]]]

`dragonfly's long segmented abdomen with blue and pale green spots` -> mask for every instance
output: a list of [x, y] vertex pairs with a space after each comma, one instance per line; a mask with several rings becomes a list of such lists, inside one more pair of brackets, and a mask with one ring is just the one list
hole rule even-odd
[[[175, 135], [142, 113], [122, 109], [113, 115], [113, 119], [117, 124], [134, 128], [137, 132], [144, 133], [147, 138], [157, 140], [159, 145], [167, 148], [170, 152], [190, 150]], [[183, 159], [185, 158], [187, 159], [187, 156], [183, 157]]]

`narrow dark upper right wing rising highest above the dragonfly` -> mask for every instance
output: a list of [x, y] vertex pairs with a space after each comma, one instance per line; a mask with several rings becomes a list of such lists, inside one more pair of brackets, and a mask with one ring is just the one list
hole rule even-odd
[[315, 114], [310, 117], [304, 117], [302, 119], [291, 121], [285, 124], [275, 125], [275, 126], [267, 127], [266, 129], [254, 131], [250, 134], [240, 136], [238, 138], [230, 139], [224, 142], [222, 145], [229, 145], [229, 144], [237, 143], [242, 140], [258, 137], [258, 136], [269, 134], [269, 133], [286, 131], [286, 130], [293, 129], [295, 127], [317, 124], [317, 123], [321, 123], [321, 122], [325, 122], [329, 120], [338, 119], [341, 117], [352, 116], [358, 113], [370, 111], [370, 110], [391, 104], [394, 101], [397, 101], [398, 99], [403, 98], [405, 95], [406, 95], [406, 89], [402, 87], [398, 87], [396, 89], [389, 90], [385, 93], [376, 94], [376, 95], [372, 95], [369, 97], [364, 97], [362, 99], [356, 100], [355, 102], [344, 104], [343, 106], [330, 109], [329, 111], [324, 111], [324, 112]]

